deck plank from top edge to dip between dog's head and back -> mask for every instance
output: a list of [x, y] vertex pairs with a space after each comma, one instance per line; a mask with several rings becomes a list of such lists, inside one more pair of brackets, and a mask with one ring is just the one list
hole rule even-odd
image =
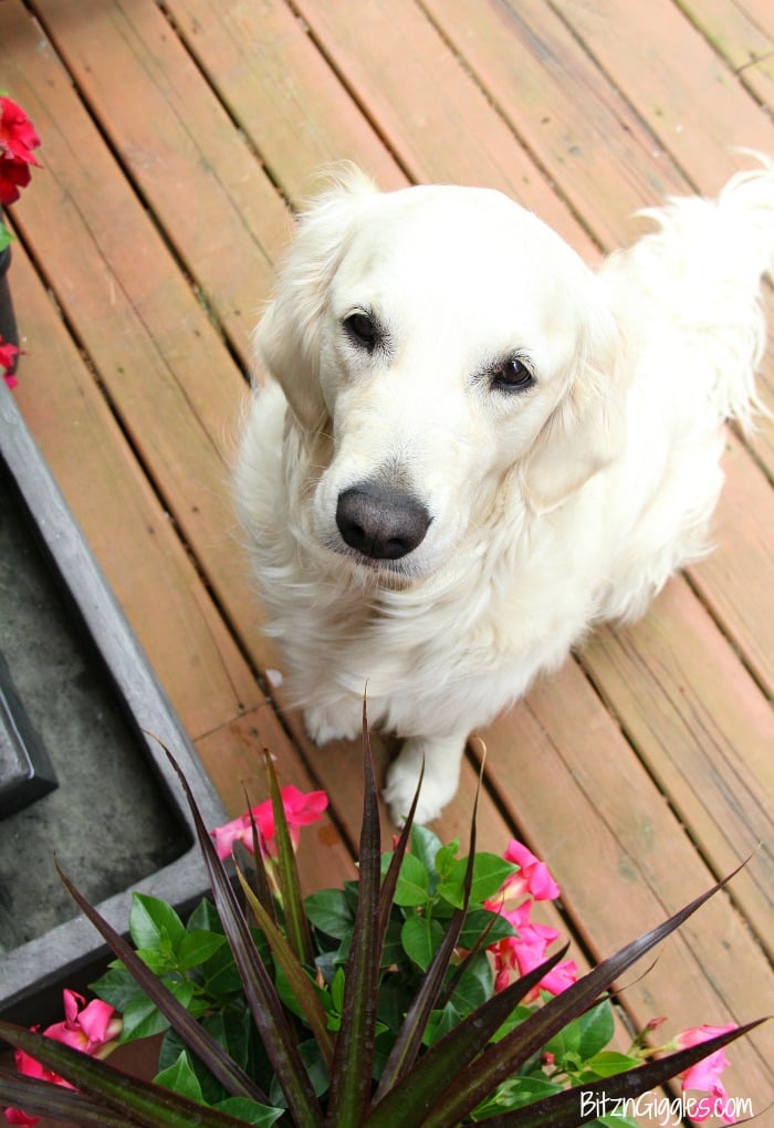
[[[573, 245], [590, 240], [413, 0], [300, 0], [299, 12], [413, 180], [514, 196]], [[399, 60], [399, 65], [396, 65]]]

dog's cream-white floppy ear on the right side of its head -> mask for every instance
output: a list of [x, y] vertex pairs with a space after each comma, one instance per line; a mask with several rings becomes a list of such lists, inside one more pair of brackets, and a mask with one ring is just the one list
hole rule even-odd
[[626, 361], [606, 308], [587, 319], [569, 386], [520, 464], [529, 508], [547, 512], [623, 451]]

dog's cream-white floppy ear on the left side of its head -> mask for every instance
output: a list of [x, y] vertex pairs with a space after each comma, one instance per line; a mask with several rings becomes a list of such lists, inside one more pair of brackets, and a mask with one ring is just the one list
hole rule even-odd
[[254, 336], [258, 364], [280, 384], [293, 415], [308, 431], [318, 430], [327, 416], [319, 388], [319, 347], [328, 287], [358, 203], [377, 191], [352, 165], [337, 168], [328, 182], [298, 220], [274, 296]]

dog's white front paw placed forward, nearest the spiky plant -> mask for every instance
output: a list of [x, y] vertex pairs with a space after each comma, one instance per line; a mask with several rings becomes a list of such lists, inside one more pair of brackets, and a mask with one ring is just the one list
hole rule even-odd
[[404, 743], [399, 756], [387, 772], [387, 786], [382, 793], [390, 818], [397, 827], [406, 821], [423, 763], [424, 777], [414, 822], [425, 826], [440, 816], [457, 792], [461, 752], [456, 740], [439, 742], [412, 737]]

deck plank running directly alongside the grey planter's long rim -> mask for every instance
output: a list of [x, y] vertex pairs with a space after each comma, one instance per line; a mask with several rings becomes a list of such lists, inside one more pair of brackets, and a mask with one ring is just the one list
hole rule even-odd
[[185, 729], [209, 732], [257, 687], [18, 243], [9, 277], [19, 406]]

